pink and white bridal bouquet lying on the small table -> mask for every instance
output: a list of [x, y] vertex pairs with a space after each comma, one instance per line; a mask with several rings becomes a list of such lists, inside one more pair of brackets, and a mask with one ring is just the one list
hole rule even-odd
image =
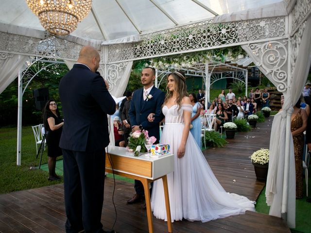
[[[134, 155], [138, 156], [139, 152], [146, 152], [147, 149], [145, 147], [145, 140], [146, 138], [149, 138], [148, 131], [142, 130], [142, 131], [135, 131], [134, 133], [130, 133], [130, 136], [128, 138], [128, 144], [127, 149], [131, 152], [134, 151]], [[149, 138], [152, 140], [153, 143], [155, 143], [156, 138], [154, 136]]]

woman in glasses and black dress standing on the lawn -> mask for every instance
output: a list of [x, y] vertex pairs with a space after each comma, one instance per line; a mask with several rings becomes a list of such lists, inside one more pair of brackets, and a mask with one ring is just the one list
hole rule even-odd
[[54, 100], [49, 100], [43, 109], [43, 122], [48, 145], [48, 166], [49, 181], [59, 180], [55, 173], [56, 157], [61, 156], [62, 149], [58, 146], [62, 134], [64, 121], [61, 119], [57, 104]]

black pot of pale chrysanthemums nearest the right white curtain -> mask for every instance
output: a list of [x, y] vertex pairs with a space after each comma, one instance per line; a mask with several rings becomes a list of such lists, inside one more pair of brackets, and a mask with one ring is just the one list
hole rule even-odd
[[257, 180], [266, 181], [269, 167], [269, 149], [255, 151], [251, 155], [251, 160], [254, 165]]

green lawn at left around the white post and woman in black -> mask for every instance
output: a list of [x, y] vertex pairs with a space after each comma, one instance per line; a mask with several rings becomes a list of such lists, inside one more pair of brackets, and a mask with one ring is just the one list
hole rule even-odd
[[[22, 127], [21, 166], [17, 166], [17, 128], [0, 128], [0, 194], [61, 183], [48, 181], [49, 173], [40, 169], [35, 158], [35, 137], [31, 126]], [[42, 163], [47, 163], [44, 151]]]

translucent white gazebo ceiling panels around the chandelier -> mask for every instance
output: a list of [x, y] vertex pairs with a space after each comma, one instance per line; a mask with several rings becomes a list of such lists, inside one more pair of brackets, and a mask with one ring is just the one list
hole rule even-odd
[[[82, 39], [113, 40], [143, 34], [217, 15], [234, 13], [282, 0], [93, 0], [89, 15], [72, 36]], [[0, 23], [44, 31], [25, 0], [1, 0]], [[0, 31], [4, 31], [1, 29]]]

